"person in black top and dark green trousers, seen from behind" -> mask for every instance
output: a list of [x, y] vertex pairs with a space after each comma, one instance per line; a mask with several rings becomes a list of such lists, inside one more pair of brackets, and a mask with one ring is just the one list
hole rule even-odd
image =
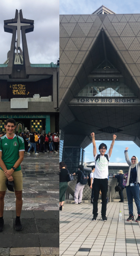
[[65, 201], [65, 192], [67, 190], [67, 165], [65, 163], [60, 163], [59, 171], [59, 211], [62, 211], [63, 204]]

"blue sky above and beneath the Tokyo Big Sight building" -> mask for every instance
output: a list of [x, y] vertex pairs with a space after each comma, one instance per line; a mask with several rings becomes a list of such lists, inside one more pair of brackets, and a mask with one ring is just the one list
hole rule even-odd
[[[126, 0], [60, 0], [60, 14], [92, 14], [100, 6], [106, 6], [116, 14], [131, 14], [140, 13], [140, 1], [126, 1]], [[96, 141], [97, 148], [101, 141]], [[107, 151], [110, 148], [111, 141], [104, 141], [107, 145]], [[110, 162], [125, 162], [124, 150], [125, 147], [129, 147], [129, 158], [133, 155], [140, 160], [140, 148], [131, 141], [115, 141], [113, 153], [110, 158]], [[85, 162], [93, 161], [93, 146], [90, 144], [85, 148]]]

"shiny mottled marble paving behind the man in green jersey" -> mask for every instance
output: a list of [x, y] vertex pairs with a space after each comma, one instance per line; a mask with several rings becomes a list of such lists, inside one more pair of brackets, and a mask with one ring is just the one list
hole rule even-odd
[[[24, 154], [22, 210], [59, 210], [59, 154]], [[5, 210], [15, 210], [15, 194], [7, 190]]]

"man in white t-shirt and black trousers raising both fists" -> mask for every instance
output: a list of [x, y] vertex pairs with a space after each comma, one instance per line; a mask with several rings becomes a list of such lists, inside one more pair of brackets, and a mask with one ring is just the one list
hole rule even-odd
[[93, 143], [93, 156], [95, 160], [95, 172], [94, 172], [94, 199], [93, 199], [93, 221], [97, 220], [98, 215], [98, 199], [99, 191], [102, 193], [102, 220], [107, 221], [106, 217], [106, 196], [108, 191], [108, 162], [110, 160], [116, 135], [113, 135], [113, 140], [110, 146], [108, 153], [106, 154], [107, 146], [104, 143], [101, 143], [99, 146], [100, 154], [97, 154], [96, 143], [95, 143], [95, 134], [92, 132], [92, 143]]

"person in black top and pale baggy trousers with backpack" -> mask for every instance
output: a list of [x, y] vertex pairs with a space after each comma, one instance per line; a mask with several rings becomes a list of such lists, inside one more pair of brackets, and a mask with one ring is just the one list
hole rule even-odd
[[77, 184], [75, 186], [75, 191], [74, 191], [74, 202], [72, 204], [82, 204], [82, 192], [85, 187], [85, 185], [80, 183], [80, 178], [82, 173], [84, 173], [83, 165], [79, 165], [78, 171], [73, 173], [73, 175], [78, 175], [78, 177], [77, 177]]

